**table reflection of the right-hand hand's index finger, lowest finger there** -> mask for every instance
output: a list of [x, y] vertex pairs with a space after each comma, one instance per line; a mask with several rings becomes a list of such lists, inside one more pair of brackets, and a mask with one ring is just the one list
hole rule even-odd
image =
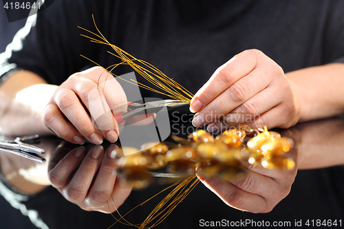
[[247, 193], [237, 186], [223, 179], [204, 179], [199, 177], [201, 182], [213, 191], [224, 203], [239, 210], [248, 212], [270, 212], [272, 206], [260, 195]]

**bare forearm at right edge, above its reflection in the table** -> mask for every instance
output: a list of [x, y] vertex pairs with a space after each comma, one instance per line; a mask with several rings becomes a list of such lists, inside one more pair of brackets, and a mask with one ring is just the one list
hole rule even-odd
[[299, 122], [344, 113], [343, 63], [308, 67], [286, 76], [300, 102]]

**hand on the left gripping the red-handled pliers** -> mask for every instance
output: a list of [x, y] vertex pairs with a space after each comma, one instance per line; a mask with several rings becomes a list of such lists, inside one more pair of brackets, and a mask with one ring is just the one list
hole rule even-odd
[[[103, 91], [104, 83], [107, 89]], [[83, 144], [85, 137], [101, 144], [103, 137], [116, 142], [119, 129], [114, 115], [125, 111], [127, 97], [118, 81], [102, 67], [92, 67], [69, 76], [56, 89], [43, 111], [43, 121], [69, 142]]]

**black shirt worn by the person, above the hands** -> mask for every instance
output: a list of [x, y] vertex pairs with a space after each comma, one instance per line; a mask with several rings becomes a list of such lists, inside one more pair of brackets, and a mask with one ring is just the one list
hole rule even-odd
[[77, 26], [96, 32], [94, 14], [111, 43], [195, 93], [217, 67], [251, 48], [285, 72], [344, 62], [343, 9], [343, 1], [327, 0], [55, 1], [38, 14], [23, 49], [12, 52], [8, 63], [55, 85], [94, 66], [80, 54], [103, 67], [118, 63], [109, 47], [80, 36], [87, 32]]

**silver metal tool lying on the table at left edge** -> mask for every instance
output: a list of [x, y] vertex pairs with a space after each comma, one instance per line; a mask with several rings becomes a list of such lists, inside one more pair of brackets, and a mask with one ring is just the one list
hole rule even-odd
[[44, 149], [36, 146], [32, 146], [28, 143], [39, 142], [39, 135], [30, 135], [23, 138], [16, 138], [14, 140], [5, 140], [0, 142], [1, 151], [6, 151], [8, 153], [14, 153], [21, 157], [34, 160], [36, 162], [45, 162], [45, 159], [36, 153], [45, 153]]

